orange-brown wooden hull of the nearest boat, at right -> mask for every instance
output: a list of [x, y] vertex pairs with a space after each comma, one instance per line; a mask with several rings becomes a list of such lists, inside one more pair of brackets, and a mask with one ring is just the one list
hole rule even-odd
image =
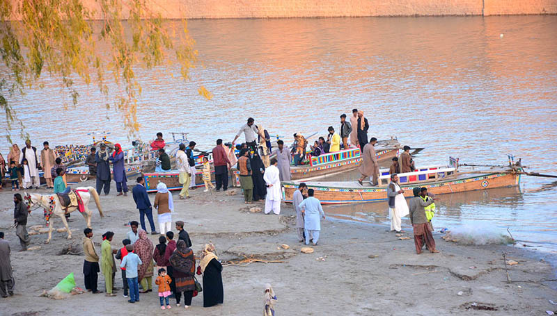
[[[489, 188], [503, 188], [519, 185], [520, 175], [511, 173], [480, 174], [464, 178], [448, 179], [436, 182], [414, 183], [401, 185], [405, 190], [405, 197], [413, 197], [412, 188], [419, 186], [427, 188], [428, 193], [450, 194], [456, 192], [467, 192], [476, 190], [487, 190]], [[340, 203], [370, 203], [387, 200], [386, 187], [361, 187], [355, 185], [327, 186], [312, 185], [306, 183], [308, 189], [315, 191], [315, 197], [325, 204]], [[283, 183], [283, 199], [291, 202], [292, 196], [297, 189], [297, 183]]]

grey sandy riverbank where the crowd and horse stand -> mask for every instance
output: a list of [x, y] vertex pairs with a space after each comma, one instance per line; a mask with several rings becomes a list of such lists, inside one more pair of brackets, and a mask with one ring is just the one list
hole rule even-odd
[[[93, 181], [86, 185], [93, 185]], [[103, 219], [95, 206], [91, 206], [93, 240], [98, 253], [104, 231], [114, 231], [113, 247], [120, 247], [120, 241], [129, 231], [124, 225], [139, 218], [131, 194], [128, 197], [115, 194], [112, 188], [111, 195], [101, 197]], [[233, 196], [195, 190], [193, 198], [186, 201], [175, 196], [173, 222], [179, 219], [186, 222], [194, 251], [198, 252], [205, 242], [212, 240], [221, 260], [242, 258], [242, 254], [283, 260], [283, 263], [225, 267], [222, 306], [203, 308], [200, 296], [194, 298], [187, 312], [183, 308], [162, 312], [155, 293], [141, 294], [141, 303], [131, 305], [121, 296], [121, 290], [117, 297], [85, 293], [55, 301], [39, 295], [70, 272], [74, 272], [77, 284], [84, 287], [83, 256], [58, 256], [58, 253], [72, 243], [81, 250], [85, 220], [72, 213], [70, 228], [76, 229], [73, 240], [66, 240], [65, 233], [54, 233], [52, 242], [44, 244], [46, 234], [33, 235], [31, 246], [41, 248], [17, 252], [19, 242], [15, 229], [7, 229], [13, 223], [12, 197], [12, 192], [0, 193], [0, 230], [6, 233], [12, 247], [16, 278], [15, 296], [0, 299], [3, 315], [60, 315], [70, 310], [73, 315], [86, 312], [260, 315], [264, 283], [274, 286], [277, 315], [545, 315], [545, 310], [557, 311], [557, 306], [549, 303], [549, 299], [557, 300], [557, 292], [552, 289], [557, 288], [557, 283], [544, 281], [554, 280], [554, 271], [546, 260], [535, 258], [533, 253], [500, 245], [461, 246], [444, 242], [440, 235], [435, 235], [441, 253], [418, 256], [413, 240], [398, 240], [393, 233], [385, 231], [385, 226], [327, 219], [322, 222], [320, 245], [314, 253], [304, 254], [299, 252], [301, 244], [292, 228], [292, 207], [283, 204], [281, 216], [249, 213], [240, 190]], [[44, 224], [42, 210], [34, 211], [33, 217], [29, 217], [28, 226], [33, 224]], [[61, 228], [59, 219], [54, 219], [54, 226]], [[150, 235], [155, 244], [156, 237]], [[283, 243], [291, 248], [278, 250]], [[506, 283], [503, 252], [519, 263], [510, 267], [513, 281], [510, 284]], [[315, 260], [319, 257], [324, 257], [324, 261]], [[121, 287], [118, 274], [116, 285]], [[99, 288], [104, 288], [102, 275]], [[495, 310], [476, 310], [483, 307]]]

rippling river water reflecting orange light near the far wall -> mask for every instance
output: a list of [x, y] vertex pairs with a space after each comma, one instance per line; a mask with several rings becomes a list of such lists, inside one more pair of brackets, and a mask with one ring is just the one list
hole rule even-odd
[[[246, 117], [272, 134], [324, 135], [341, 113], [359, 108], [370, 137], [425, 147], [417, 165], [448, 156], [504, 164], [512, 153], [533, 171], [557, 174], [557, 16], [194, 20], [189, 29], [203, 62], [190, 81], [136, 70], [143, 140], [187, 131], [209, 149], [216, 138], [232, 140]], [[95, 85], [78, 83], [79, 106], [62, 111], [67, 93], [49, 78], [42, 83], [13, 100], [35, 144], [88, 143], [86, 134], [99, 131], [130, 142], [118, 113], [99, 106], [106, 100]], [[200, 85], [212, 101], [198, 95]], [[7, 147], [2, 138], [5, 155]], [[434, 222], [509, 227], [515, 238], [557, 252], [556, 205], [557, 182], [523, 177], [519, 190], [445, 196]], [[384, 203], [327, 212], [388, 222]]]

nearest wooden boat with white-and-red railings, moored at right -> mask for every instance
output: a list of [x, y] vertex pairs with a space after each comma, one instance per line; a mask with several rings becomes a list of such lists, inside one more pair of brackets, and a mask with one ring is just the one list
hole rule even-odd
[[[400, 187], [405, 190], [405, 197], [413, 197], [412, 188], [416, 186], [425, 187], [427, 192], [432, 194], [450, 194], [519, 185], [521, 172], [521, 167], [517, 165], [485, 172], [460, 172], [458, 160], [450, 158], [449, 166], [423, 167], [416, 172], [399, 174], [399, 178]], [[382, 169], [380, 174], [377, 186], [362, 186], [356, 181], [306, 182], [306, 185], [315, 190], [315, 197], [325, 204], [386, 201], [387, 185], [390, 182], [389, 170]], [[297, 187], [296, 182], [282, 183], [284, 201], [292, 201]]]

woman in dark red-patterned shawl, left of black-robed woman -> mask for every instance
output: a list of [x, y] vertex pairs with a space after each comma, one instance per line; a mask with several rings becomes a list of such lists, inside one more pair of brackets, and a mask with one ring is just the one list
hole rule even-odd
[[191, 298], [194, 297], [194, 290], [196, 284], [194, 275], [196, 271], [196, 259], [194, 258], [194, 251], [186, 246], [184, 240], [178, 240], [176, 250], [170, 256], [170, 264], [172, 265], [172, 272], [174, 282], [176, 285], [176, 305], [180, 306], [180, 298], [182, 292], [184, 293], [184, 307], [189, 308], [191, 305]]

